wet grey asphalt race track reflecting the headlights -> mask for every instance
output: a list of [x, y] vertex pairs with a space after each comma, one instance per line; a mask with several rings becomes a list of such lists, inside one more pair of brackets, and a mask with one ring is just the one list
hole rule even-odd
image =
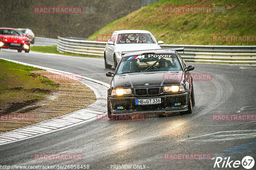
[[[11, 50], [1, 50], [0, 57], [83, 74], [106, 83], [110, 83], [110, 78], [105, 73], [114, 71], [105, 69], [101, 58], [25, 54]], [[147, 117], [144, 121], [94, 120], [0, 145], [0, 164], [90, 165], [90, 169], [111, 169], [111, 165], [145, 165], [145, 169], [216, 169], [213, 168], [215, 159], [164, 160], [164, 153], [210, 153], [213, 157], [240, 161], [244, 156], [252, 156], [256, 161], [255, 121], [211, 120], [212, 114], [256, 114], [256, 67], [188, 64], [195, 66], [191, 73], [212, 74], [210, 81], [194, 81], [196, 105], [192, 114]], [[36, 161], [33, 160], [35, 153], [81, 153], [83, 160]], [[236, 169], [244, 168], [240, 165]]]

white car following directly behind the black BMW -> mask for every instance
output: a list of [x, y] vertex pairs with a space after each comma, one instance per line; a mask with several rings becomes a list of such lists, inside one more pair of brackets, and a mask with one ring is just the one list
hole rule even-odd
[[120, 30], [112, 33], [104, 49], [105, 68], [116, 68], [124, 51], [161, 49], [155, 37], [144, 30]]

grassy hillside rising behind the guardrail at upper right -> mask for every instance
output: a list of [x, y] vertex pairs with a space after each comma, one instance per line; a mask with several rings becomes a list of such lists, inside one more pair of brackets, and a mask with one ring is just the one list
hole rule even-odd
[[[164, 13], [165, 6], [211, 6], [215, 12], [198, 14]], [[190, 45], [256, 45], [256, 42], [212, 42], [213, 35], [255, 35], [255, 0], [162, 0], [118, 19], [97, 35], [116, 30], [148, 30], [164, 44]], [[216, 10], [223, 13], [216, 13]]]

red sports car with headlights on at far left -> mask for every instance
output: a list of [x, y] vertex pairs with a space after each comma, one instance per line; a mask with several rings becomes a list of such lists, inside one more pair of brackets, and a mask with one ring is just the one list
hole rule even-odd
[[25, 51], [29, 53], [30, 40], [24, 34], [15, 28], [0, 28], [0, 49], [17, 49], [18, 52]]

